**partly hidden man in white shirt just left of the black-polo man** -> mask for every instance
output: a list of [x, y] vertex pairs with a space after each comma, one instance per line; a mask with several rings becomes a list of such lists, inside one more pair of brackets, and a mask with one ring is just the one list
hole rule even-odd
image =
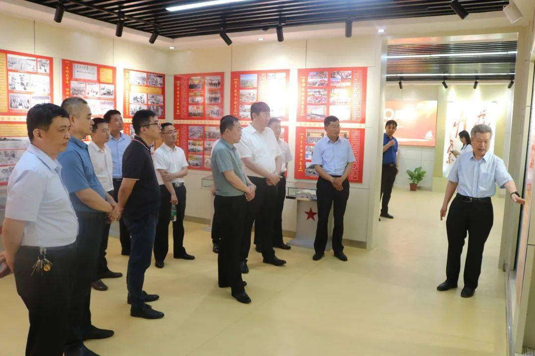
[[[104, 191], [113, 196], [113, 164], [111, 151], [106, 142], [110, 140], [109, 120], [102, 117], [93, 118], [93, 131], [91, 132], [91, 141], [89, 142], [88, 151], [93, 169], [102, 184]], [[102, 241], [100, 251], [98, 252], [98, 270], [97, 280], [91, 283], [93, 289], [108, 290], [108, 286], [102, 282], [103, 278], [120, 278], [123, 273], [112, 272], [108, 268], [106, 260], [106, 249], [108, 248], [108, 237], [110, 234], [111, 221], [106, 221], [102, 231]]]

